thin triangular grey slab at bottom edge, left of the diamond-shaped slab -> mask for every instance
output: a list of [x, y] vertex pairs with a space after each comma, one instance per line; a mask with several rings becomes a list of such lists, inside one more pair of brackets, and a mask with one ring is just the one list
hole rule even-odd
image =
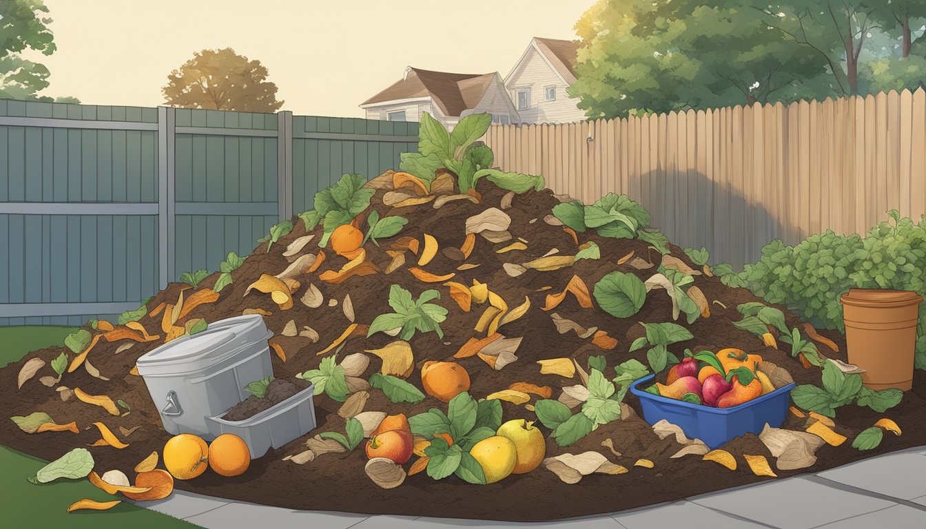
[[654, 527], [710, 527], [711, 529], [750, 529], [767, 527], [740, 518], [707, 509], [696, 503], [682, 500], [644, 510], [611, 516], [626, 529], [653, 529]]

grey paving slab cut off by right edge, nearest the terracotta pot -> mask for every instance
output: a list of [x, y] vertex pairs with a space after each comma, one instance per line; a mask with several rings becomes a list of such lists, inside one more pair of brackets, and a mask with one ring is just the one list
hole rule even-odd
[[926, 496], [926, 458], [921, 454], [888, 454], [850, 463], [817, 474], [821, 478], [855, 486], [892, 498]]

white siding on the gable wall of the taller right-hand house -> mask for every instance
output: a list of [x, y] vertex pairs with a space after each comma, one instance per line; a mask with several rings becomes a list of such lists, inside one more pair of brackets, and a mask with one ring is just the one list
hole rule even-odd
[[[555, 101], [545, 100], [547, 86], [556, 87]], [[516, 108], [518, 89], [531, 89], [531, 107], [518, 110], [522, 123], [569, 123], [585, 120], [585, 113], [576, 106], [579, 99], [566, 94], [568, 86], [533, 46], [528, 49], [518, 67], [511, 72], [506, 83], [508, 94]]]

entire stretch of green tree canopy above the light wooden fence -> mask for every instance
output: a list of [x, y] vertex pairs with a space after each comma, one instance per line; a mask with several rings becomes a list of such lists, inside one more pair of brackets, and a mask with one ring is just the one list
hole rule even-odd
[[[922, 0], [599, 0], [569, 94], [614, 118], [915, 88], [924, 16]], [[879, 38], [895, 44], [873, 53]]]

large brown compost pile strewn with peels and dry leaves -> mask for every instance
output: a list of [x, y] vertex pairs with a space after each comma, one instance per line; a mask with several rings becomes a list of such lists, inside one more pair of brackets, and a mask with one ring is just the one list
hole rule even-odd
[[[46, 460], [74, 447], [90, 446], [98, 472], [117, 469], [131, 475], [139, 461], [159, 452], [169, 439], [142, 377], [134, 370], [136, 359], [166, 340], [194, 333], [203, 321], [259, 313], [275, 334], [270, 343], [276, 379], [303, 378], [316, 384], [326, 380], [327, 387], [315, 396], [318, 427], [252, 461], [243, 475], [228, 478], [207, 471], [189, 481], [178, 480], [178, 488], [292, 509], [543, 521], [632, 509], [774, 479], [771, 473], [784, 477], [818, 472], [850, 460], [926, 445], [920, 397], [926, 381], [921, 372], [914, 390], [884, 413], [844, 406], [832, 421], [793, 409], [782, 429], [797, 433], [791, 438], [798, 441], [789, 447], [800, 453], [788, 453], [789, 464], [777, 457], [785, 455], [782, 447], [773, 451], [774, 443], [758, 435], [733, 439], [721, 447], [724, 452], [705, 460], [707, 447], [672, 425], [654, 428], [644, 422], [639, 401], [630, 393], [619, 411], [608, 408], [611, 416], [605, 411], [598, 414], [601, 423], [587, 435], [581, 431], [584, 420], [575, 421], [579, 425], [571, 431], [549, 418], [538, 421], [541, 403], [548, 400], [562, 402], [562, 408], [568, 409], [557, 422], [582, 414], [583, 401], [596, 393], [589, 386], [600, 384], [602, 373], [610, 384], [616, 366], [623, 366], [619, 374], [620, 369], [632, 372], [632, 366], [643, 366], [646, 372], [654, 360], [664, 365], [665, 357], [657, 358], [661, 349], [654, 353], [654, 347], [640, 346], [646, 336], [641, 322], [672, 322], [690, 333], [692, 337], [682, 336], [669, 344], [672, 356], [682, 357], [685, 349], [716, 352], [736, 347], [773, 362], [796, 384], [820, 385], [821, 370], [806, 359], [802, 362], [802, 357], [792, 357], [782, 334], [771, 326], [763, 333], [769, 334], [765, 339], [734, 326], [733, 322], [744, 319], [738, 307], [762, 300], [745, 289], [723, 285], [681, 248], [668, 246], [669, 253], [662, 255], [651, 240], [603, 237], [591, 229], [576, 233], [551, 215], [554, 207], [569, 203], [568, 198], [532, 187], [516, 193], [488, 178], [466, 193], [453, 175], [438, 173], [430, 187], [391, 171], [368, 183], [375, 194], [353, 219], [360, 232], [394, 216], [407, 223], [391, 236], [377, 238], [374, 233], [375, 242], [365, 241], [360, 250], [344, 252], [346, 257], [332, 249], [346, 244], [337, 237], [319, 247], [328, 238], [324, 223], [311, 214], [294, 218], [291, 232], [271, 232], [243, 263], [236, 263], [240, 264], [236, 269], [230, 266], [213, 273], [195, 288], [170, 284], [144, 309], [126, 318], [137, 317], [137, 321], [112, 330], [105, 322], [88, 324], [84, 336], [93, 339], [78, 347], [81, 355], [69, 347], [53, 347], [0, 370], [0, 386], [6, 390], [0, 404], [5, 418], [0, 441]], [[308, 231], [307, 222], [312, 227]], [[673, 307], [667, 289], [671, 284], [645, 293], [642, 306], [636, 307], [633, 296], [626, 295], [603, 308], [607, 283], [614, 283], [616, 277], [609, 274], [620, 272], [646, 282], [669, 269], [692, 279], [682, 301], [696, 305], [694, 318], [685, 311], [690, 307], [680, 308], [678, 302]], [[606, 276], [610, 279], [603, 282]], [[217, 281], [225, 283], [218, 294], [213, 292]], [[426, 294], [429, 290], [439, 296]], [[403, 299], [405, 291], [410, 298]], [[421, 318], [417, 331], [394, 335], [395, 320], [390, 320], [394, 317], [382, 317], [421, 305], [443, 308], [444, 321]], [[630, 317], [612, 315], [633, 309], [637, 310]], [[787, 309], [775, 309], [782, 310], [788, 328], [806, 333], [821, 355], [845, 360], [845, 341], [839, 334], [817, 334]], [[423, 309], [432, 316], [444, 310]], [[809, 335], [815, 337], [811, 340]], [[68, 365], [76, 367], [59, 376], [62, 353]], [[628, 364], [630, 360], [638, 361]], [[435, 462], [441, 456], [422, 452], [430, 440], [417, 435], [416, 455], [398, 475], [394, 472], [378, 484], [365, 469], [368, 457], [363, 443], [348, 450], [330, 436], [318, 436], [332, 432], [346, 439], [348, 419], [362, 423], [369, 435], [385, 415], [405, 414], [416, 430], [422, 422], [414, 419], [416, 415], [430, 409], [439, 410], [431, 412], [435, 417], [448, 413], [445, 400], [432, 395], [456, 395], [457, 379], [437, 369], [434, 376], [429, 372], [422, 380], [422, 368], [432, 361], [456, 362], [468, 373], [472, 400], [457, 401], [461, 405], [486, 398], [497, 403], [485, 409], [489, 414], [500, 409], [501, 417], [479, 417], [479, 422], [495, 427], [513, 419], [536, 422], [545, 439], [544, 463], [532, 472], [475, 485], [468, 482], [478, 482], [480, 476], [472, 472], [461, 474], [450, 468], [449, 475], [441, 476], [441, 465]], [[665, 376], [662, 372], [657, 380], [664, 381]], [[299, 387], [284, 394], [291, 395]], [[29, 433], [6, 419], [37, 411], [58, 424], [76, 422], [76, 428], [32, 428]], [[244, 409], [241, 416], [254, 412]], [[880, 445], [866, 451], [851, 446], [859, 433], [883, 418], [899, 424], [903, 435], [884, 434]], [[94, 422], [104, 423], [127, 446], [117, 449], [100, 442], [100, 428], [92, 426]], [[812, 431], [820, 434], [820, 442], [802, 436], [815, 438], [806, 434], [814, 424], [818, 426]], [[473, 426], [452, 428], [459, 434], [458, 430], [466, 433]], [[788, 441], [788, 435], [778, 434], [773, 436]], [[847, 440], [840, 441], [841, 436]], [[442, 439], [439, 445], [446, 448], [448, 443]], [[441, 464], [449, 464], [446, 459]], [[795, 460], [803, 461], [803, 468], [794, 468], [800, 466]]]

